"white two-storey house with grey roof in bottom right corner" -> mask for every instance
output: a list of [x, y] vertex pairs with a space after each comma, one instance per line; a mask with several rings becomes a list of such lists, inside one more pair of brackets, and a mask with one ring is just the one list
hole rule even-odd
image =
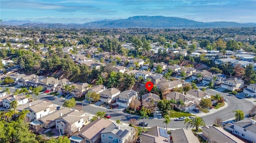
[[256, 143], [256, 121], [250, 118], [244, 118], [226, 126], [226, 129], [232, 131], [234, 135]]

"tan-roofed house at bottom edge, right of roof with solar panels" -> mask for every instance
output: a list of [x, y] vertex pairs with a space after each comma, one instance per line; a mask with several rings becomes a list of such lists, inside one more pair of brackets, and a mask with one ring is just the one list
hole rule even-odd
[[192, 129], [171, 130], [171, 143], [200, 143]]

